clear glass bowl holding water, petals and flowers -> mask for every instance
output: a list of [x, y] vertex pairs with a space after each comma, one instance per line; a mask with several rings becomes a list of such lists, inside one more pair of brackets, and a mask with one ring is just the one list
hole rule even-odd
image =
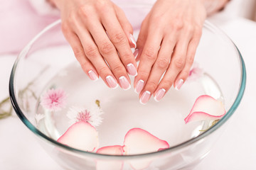
[[[134, 30], [137, 35], [139, 30]], [[235, 44], [206, 21], [195, 62], [203, 69], [201, 77], [186, 82], [181, 91], [171, 89], [163, 101], [139, 104], [132, 89], [111, 90], [99, 80], [92, 82], [80, 69], [73, 51], [56, 21], [34, 38], [18, 55], [10, 78], [10, 96], [18, 117], [35, 134], [41, 145], [65, 169], [192, 169], [210, 152], [235, 112], [245, 90], [245, 64]], [[68, 106], [62, 112], [41, 108], [47, 89], [68, 91]], [[227, 113], [211, 128], [210, 121], [183, 123], [196, 97], [208, 94], [222, 101]], [[100, 147], [121, 145], [125, 132], [143, 128], [166, 140], [169, 149], [135, 155], [107, 155], [85, 152], [56, 140], [68, 128], [65, 113], [74, 104], [93, 104], [100, 99], [104, 120], [99, 126]], [[42, 116], [43, 115], [43, 116]], [[202, 132], [200, 130], [208, 130]], [[36, 151], [35, 151], [36, 152]], [[146, 164], [146, 166], [145, 166]]]

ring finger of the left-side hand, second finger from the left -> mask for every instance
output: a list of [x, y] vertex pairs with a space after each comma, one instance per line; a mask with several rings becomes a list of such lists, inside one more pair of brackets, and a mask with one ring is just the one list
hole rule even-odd
[[100, 77], [105, 81], [105, 84], [111, 89], [116, 89], [118, 86], [117, 80], [114, 78], [110, 68], [100, 55], [97, 45], [95, 45], [90, 33], [86, 29], [83, 29], [81, 24], [78, 24], [74, 28], [76, 28], [75, 31], [78, 33], [78, 38], [82, 44], [85, 56], [90, 60], [92, 65], [94, 65], [95, 69], [97, 69], [97, 73], [100, 74]]

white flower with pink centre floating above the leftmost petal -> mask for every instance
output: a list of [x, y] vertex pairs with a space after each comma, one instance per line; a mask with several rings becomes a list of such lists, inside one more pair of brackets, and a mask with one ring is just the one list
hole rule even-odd
[[92, 106], [89, 109], [73, 106], [69, 109], [67, 116], [70, 119], [70, 125], [73, 125], [76, 122], [85, 121], [96, 127], [102, 123], [102, 113], [102, 109], [98, 106]]

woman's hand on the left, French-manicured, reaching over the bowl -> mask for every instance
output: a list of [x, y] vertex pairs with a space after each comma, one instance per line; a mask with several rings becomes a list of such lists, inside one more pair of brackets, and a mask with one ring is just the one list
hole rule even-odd
[[60, 9], [62, 30], [75, 57], [92, 80], [100, 76], [115, 89], [130, 88], [137, 75], [131, 48], [136, 48], [132, 26], [121, 8], [110, 0], [51, 0]]

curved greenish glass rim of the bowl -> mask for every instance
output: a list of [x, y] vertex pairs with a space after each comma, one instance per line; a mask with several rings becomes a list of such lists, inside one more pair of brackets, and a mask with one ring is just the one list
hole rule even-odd
[[[36, 37], [33, 38], [33, 40], [31, 40], [31, 42], [29, 42], [28, 45], [26, 45], [26, 47], [24, 49], [29, 49], [31, 47], [31, 45], [33, 44], [33, 42], [35, 42], [39, 37], [41, 37], [41, 35], [43, 35], [43, 33], [50, 30], [50, 28], [53, 28], [54, 26], [57, 26], [59, 23], [61, 23], [60, 20], [55, 21], [54, 23], [52, 23], [49, 26], [47, 26], [46, 28], [44, 28], [41, 31], [41, 33], [38, 33], [38, 35], [36, 35]], [[215, 30], [215, 31], [218, 30], [217, 32], [221, 33], [222, 35], [225, 35], [225, 33], [223, 33], [223, 31], [221, 31], [219, 28], [214, 26], [209, 21], [205, 22], [205, 26], [207, 26], [207, 25], [210, 28], [213, 28], [213, 30]], [[228, 35], [225, 35], [225, 38], [228, 38]], [[228, 40], [230, 40], [230, 38], [228, 38]], [[230, 42], [232, 42], [232, 44], [235, 46], [235, 49], [238, 50], [238, 47], [236, 47], [234, 42], [232, 40], [230, 40]], [[198, 135], [197, 137], [192, 138], [191, 140], [187, 140], [185, 142], [182, 142], [181, 144], [175, 145], [175, 146], [170, 147], [168, 149], [161, 150], [159, 152], [150, 152], [150, 153], [146, 153], [146, 154], [134, 154], [134, 155], [122, 155], [122, 156], [121, 155], [109, 155], [109, 154], [96, 154], [96, 153], [93, 153], [93, 152], [85, 152], [85, 151], [82, 151], [80, 149], [75, 149], [73, 147], [68, 147], [67, 145], [63, 145], [60, 142], [57, 142], [57, 141], [51, 139], [50, 137], [44, 135], [41, 131], [39, 131], [35, 126], [33, 126], [33, 124], [31, 122], [29, 122], [29, 120], [26, 118], [26, 116], [23, 115], [21, 109], [18, 107], [18, 103], [16, 101], [15, 93], [14, 93], [15, 92], [14, 91], [14, 74], [16, 72], [16, 66], [18, 64], [18, 60], [23, 55], [23, 53], [24, 52], [21, 51], [20, 55], [18, 55], [18, 57], [16, 59], [16, 62], [14, 63], [14, 67], [11, 70], [11, 76], [10, 76], [10, 80], [9, 80], [9, 94], [10, 94], [11, 104], [14, 107], [14, 111], [18, 115], [18, 118], [21, 119], [21, 121], [28, 127], [28, 129], [30, 129], [38, 137], [43, 138], [43, 140], [48, 140], [49, 142], [51, 142], [56, 147], [67, 149], [69, 152], [75, 152], [77, 154], [85, 154], [85, 155], [90, 156], [90, 157], [96, 157], [96, 158], [112, 157], [112, 158], [115, 158], [115, 159], [137, 159], [138, 157], [139, 158], [149, 157], [149, 156], [153, 157], [153, 156], [157, 156], [159, 154], [164, 154], [166, 152], [176, 151], [177, 149], [181, 149], [182, 147], [188, 147], [188, 145], [192, 145], [193, 143], [197, 142], [198, 140], [203, 139], [203, 137], [206, 137], [206, 136], [210, 135], [212, 132], [214, 132], [215, 130], [220, 128], [220, 126], [223, 125], [228, 120], [228, 118], [230, 118], [230, 116], [233, 115], [235, 110], [238, 108], [239, 103], [240, 103], [240, 101], [242, 99], [242, 96], [244, 94], [244, 91], [245, 91], [245, 84], [246, 84], [245, 62], [242, 59], [242, 55], [241, 55], [240, 51], [238, 50], [238, 55], [239, 55], [238, 57], [240, 58], [240, 68], [241, 68], [241, 75], [242, 75], [242, 79], [240, 80], [240, 91], [238, 92], [238, 95], [235, 98], [235, 101], [234, 101], [233, 105], [231, 106], [231, 108], [229, 109], [229, 111], [223, 116], [222, 119], [220, 119], [220, 121], [218, 121], [218, 123], [213, 125], [212, 128], [208, 129], [206, 132], [203, 132], [201, 135]]]

